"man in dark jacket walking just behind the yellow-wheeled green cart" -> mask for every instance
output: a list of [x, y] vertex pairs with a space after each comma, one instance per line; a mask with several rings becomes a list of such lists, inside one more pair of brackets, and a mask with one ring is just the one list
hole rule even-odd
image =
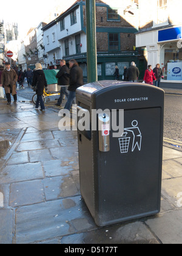
[[60, 97], [58, 99], [58, 102], [55, 104], [56, 106], [59, 106], [59, 107], [61, 107], [63, 96], [66, 95], [67, 99], [69, 96], [69, 91], [66, 88], [66, 85], [70, 84], [70, 79], [68, 77], [68, 74], [70, 74], [70, 71], [66, 65], [66, 61], [60, 60], [60, 69], [59, 69], [59, 72], [56, 74], [56, 78], [58, 78], [58, 85], [64, 85], [64, 87], [61, 87]]

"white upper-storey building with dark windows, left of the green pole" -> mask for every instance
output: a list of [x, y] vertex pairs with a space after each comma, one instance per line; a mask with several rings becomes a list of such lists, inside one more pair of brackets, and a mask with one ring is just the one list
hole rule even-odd
[[[61, 59], [76, 59], [87, 51], [86, 32], [83, 30], [83, 9], [76, 2], [56, 20], [43, 27], [47, 64], [53, 67]], [[85, 58], [86, 55], [83, 55]]]

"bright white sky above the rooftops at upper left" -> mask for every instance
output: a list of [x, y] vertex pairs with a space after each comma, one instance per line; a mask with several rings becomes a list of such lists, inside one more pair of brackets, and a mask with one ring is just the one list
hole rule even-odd
[[[30, 27], [37, 27], [49, 16], [50, 11], [57, 13], [55, 7], [67, 10], [76, 0], [2, 0], [0, 20], [18, 23], [19, 37], [24, 38]], [[60, 15], [61, 13], [59, 13]]]

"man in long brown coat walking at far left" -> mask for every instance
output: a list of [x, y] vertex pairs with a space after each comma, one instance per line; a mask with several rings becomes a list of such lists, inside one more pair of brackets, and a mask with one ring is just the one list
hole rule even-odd
[[14, 102], [17, 102], [17, 94], [16, 94], [16, 81], [18, 76], [14, 69], [10, 68], [10, 63], [5, 63], [5, 69], [1, 74], [1, 87], [4, 87], [5, 95], [7, 98], [7, 105], [11, 104], [11, 93], [14, 98]]

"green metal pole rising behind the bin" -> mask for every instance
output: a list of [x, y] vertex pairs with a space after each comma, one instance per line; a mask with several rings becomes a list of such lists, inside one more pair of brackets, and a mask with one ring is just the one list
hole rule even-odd
[[95, 0], [86, 0], [86, 29], [87, 29], [87, 80], [88, 83], [96, 82], [97, 57], [96, 57], [96, 11]]

